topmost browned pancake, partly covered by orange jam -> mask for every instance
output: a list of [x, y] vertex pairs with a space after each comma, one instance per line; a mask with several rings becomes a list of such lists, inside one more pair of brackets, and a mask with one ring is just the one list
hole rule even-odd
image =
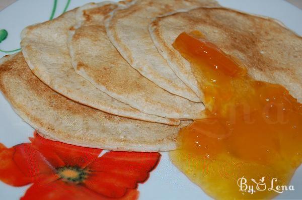
[[190, 63], [172, 44], [180, 33], [194, 30], [238, 58], [252, 78], [281, 84], [302, 101], [302, 38], [280, 22], [226, 8], [199, 8], [157, 18], [150, 25], [155, 45], [179, 77], [189, 82], [196, 82]]

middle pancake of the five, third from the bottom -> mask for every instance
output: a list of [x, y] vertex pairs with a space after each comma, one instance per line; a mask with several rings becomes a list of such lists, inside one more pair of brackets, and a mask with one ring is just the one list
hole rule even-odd
[[[171, 94], [132, 68], [109, 41], [104, 17], [117, 4], [87, 5], [70, 30], [69, 53], [75, 71], [100, 90], [144, 113], [166, 118], [199, 119], [204, 105]], [[121, 6], [120, 6], [121, 7]]]

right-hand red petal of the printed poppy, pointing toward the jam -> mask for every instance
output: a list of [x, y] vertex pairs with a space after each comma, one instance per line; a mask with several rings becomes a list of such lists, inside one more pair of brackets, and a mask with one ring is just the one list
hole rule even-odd
[[85, 184], [108, 197], [120, 197], [147, 179], [160, 156], [159, 153], [110, 151], [87, 166], [92, 172]]

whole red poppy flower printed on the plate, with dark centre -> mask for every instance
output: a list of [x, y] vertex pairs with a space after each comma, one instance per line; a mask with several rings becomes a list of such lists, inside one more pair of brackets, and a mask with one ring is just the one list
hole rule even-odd
[[137, 199], [137, 183], [148, 178], [159, 153], [114, 152], [47, 140], [36, 132], [31, 143], [0, 143], [0, 180], [33, 183], [22, 200]]

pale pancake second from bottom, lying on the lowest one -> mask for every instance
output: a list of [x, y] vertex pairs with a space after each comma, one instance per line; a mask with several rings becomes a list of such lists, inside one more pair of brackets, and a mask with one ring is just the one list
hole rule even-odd
[[179, 120], [148, 115], [117, 101], [75, 73], [67, 37], [68, 29], [75, 24], [76, 12], [23, 30], [21, 47], [34, 74], [55, 91], [84, 105], [122, 117], [178, 125]]

